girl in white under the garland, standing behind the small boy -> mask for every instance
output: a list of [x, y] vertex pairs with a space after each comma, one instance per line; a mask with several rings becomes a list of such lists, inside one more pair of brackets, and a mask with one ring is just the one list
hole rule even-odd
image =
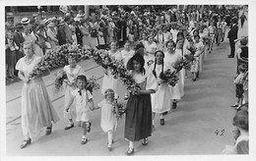
[[[65, 82], [65, 89], [64, 89], [64, 107], [66, 107], [72, 99], [71, 92], [76, 89], [74, 83], [76, 82], [76, 79], [79, 75], [83, 75], [83, 69], [81, 66], [77, 65], [76, 57], [70, 56], [68, 59], [69, 65], [65, 66], [63, 68], [63, 72], [67, 74], [67, 80], [64, 80]], [[64, 130], [69, 130], [74, 127], [73, 119], [75, 118], [75, 109], [73, 108], [73, 105], [71, 109], [69, 110], [67, 114], [67, 117], [69, 119], [69, 124], [65, 127]]]

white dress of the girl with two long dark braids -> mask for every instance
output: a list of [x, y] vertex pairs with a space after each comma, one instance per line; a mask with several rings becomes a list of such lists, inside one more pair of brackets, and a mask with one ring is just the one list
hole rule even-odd
[[[154, 71], [155, 64], [151, 66], [151, 71]], [[157, 74], [157, 80], [159, 82], [159, 89], [156, 93], [151, 94], [152, 98], [152, 112], [155, 113], [163, 113], [170, 110], [170, 90], [169, 85], [167, 82], [160, 83], [160, 73], [161, 71], [164, 72], [167, 70], [166, 66], [163, 66], [162, 71], [162, 65], [156, 65], [156, 74]]]

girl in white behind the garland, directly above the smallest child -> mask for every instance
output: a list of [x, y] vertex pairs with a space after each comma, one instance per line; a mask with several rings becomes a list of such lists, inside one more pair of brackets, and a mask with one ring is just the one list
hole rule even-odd
[[[117, 50], [117, 45], [116, 42], [111, 42], [110, 44], [111, 49], [108, 52], [108, 55], [118, 61], [122, 61], [122, 55], [121, 53]], [[119, 97], [118, 95], [118, 82], [120, 80], [114, 78], [111, 75], [110, 69], [104, 69], [104, 77], [102, 81], [102, 87], [101, 87], [101, 93], [104, 94], [104, 91], [108, 88], [111, 88], [114, 90], [115, 93], [115, 99]]]

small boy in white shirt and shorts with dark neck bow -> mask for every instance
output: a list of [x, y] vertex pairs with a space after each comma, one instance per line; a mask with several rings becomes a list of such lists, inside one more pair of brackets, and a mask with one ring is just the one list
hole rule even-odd
[[76, 121], [80, 123], [83, 129], [83, 136], [81, 144], [86, 144], [88, 142], [87, 133], [91, 131], [91, 123], [89, 120], [89, 111], [94, 108], [93, 95], [89, 90], [86, 89], [87, 77], [80, 75], [77, 77], [77, 86], [75, 90], [71, 92], [71, 98], [68, 104], [65, 106], [66, 112], [69, 112], [70, 106], [73, 100], [76, 99]]

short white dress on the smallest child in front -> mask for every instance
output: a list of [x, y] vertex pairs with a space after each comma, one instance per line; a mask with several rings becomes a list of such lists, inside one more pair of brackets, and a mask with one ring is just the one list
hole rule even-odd
[[116, 119], [113, 113], [114, 106], [108, 103], [105, 99], [99, 102], [97, 106], [101, 108], [101, 129], [105, 133], [109, 131], [114, 131], [114, 128], [116, 126]]

